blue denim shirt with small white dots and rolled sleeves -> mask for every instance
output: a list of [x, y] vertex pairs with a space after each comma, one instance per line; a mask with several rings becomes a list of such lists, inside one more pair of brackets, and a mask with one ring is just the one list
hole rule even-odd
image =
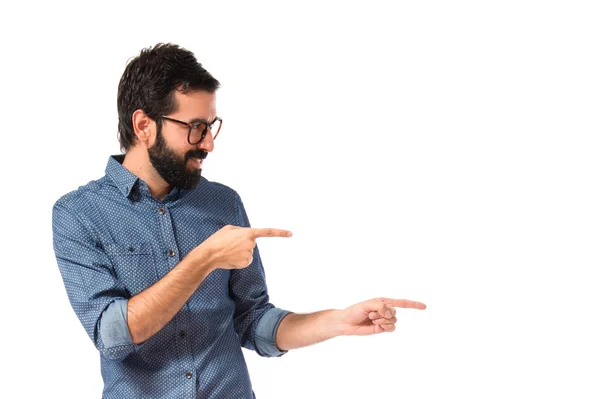
[[54, 251], [69, 301], [100, 351], [103, 398], [252, 398], [241, 347], [281, 356], [289, 312], [269, 303], [258, 248], [250, 266], [216, 269], [154, 336], [136, 345], [127, 301], [221, 227], [250, 226], [239, 195], [204, 177], [159, 201], [109, 158], [106, 175], [60, 198]]

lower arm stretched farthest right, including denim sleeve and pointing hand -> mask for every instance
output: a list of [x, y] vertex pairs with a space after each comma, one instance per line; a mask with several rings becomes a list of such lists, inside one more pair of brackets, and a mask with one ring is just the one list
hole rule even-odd
[[[250, 227], [244, 205], [236, 193], [238, 225]], [[269, 303], [264, 268], [254, 248], [253, 262], [232, 270], [230, 295], [236, 302], [235, 329], [242, 346], [265, 357], [281, 356], [340, 335], [372, 335], [392, 332], [396, 307], [425, 309], [425, 304], [406, 299], [374, 298], [343, 310], [329, 309], [295, 314]]]

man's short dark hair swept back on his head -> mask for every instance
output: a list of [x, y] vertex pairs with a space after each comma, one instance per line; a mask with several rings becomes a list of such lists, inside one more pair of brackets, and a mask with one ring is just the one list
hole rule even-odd
[[121, 150], [127, 151], [137, 139], [131, 121], [136, 110], [143, 110], [161, 126], [160, 116], [170, 114], [177, 106], [175, 90], [214, 93], [219, 86], [219, 81], [183, 47], [159, 43], [143, 49], [127, 64], [119, 82], [117, 109]]

